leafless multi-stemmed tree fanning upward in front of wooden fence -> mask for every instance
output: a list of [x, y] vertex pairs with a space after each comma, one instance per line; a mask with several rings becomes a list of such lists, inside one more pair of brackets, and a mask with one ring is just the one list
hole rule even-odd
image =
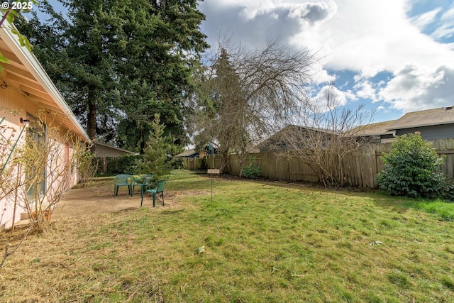
[[311, 167], [326, 187], [343, 186], [343, 160], [357, 153], [367, 139], [356, 136], [361, 126], [370, 123], [373, 112], [360, 104], [356, 109], [341, 107], [331, 83], [325, 90], [325, 102], [308, 104], [295, 116], [295, 124], [281, 131], [281, 140], [289, 156]]

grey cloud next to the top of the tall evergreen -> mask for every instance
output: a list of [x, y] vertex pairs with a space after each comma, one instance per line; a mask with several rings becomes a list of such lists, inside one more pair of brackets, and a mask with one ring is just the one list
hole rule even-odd
[[242, 45], [263, 44], [275, 38], [289, 44], [302, 28], [323, 23], [336, 13], [336, 4], [332, 0], [314, 3], [206, 0], [201, 2], [199, 8], [206, 15], [202, 30], [209, 36], [212, 45], [216, 44], [219, 35], [227, 35], [232, 43]]

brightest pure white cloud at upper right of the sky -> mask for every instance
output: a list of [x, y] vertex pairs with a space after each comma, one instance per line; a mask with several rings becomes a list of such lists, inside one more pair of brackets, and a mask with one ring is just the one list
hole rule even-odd
[[[453, 62], [454, 53], [424, 35], [406, 18], [405, 1], [336, 1], [338, 11], [319, 28], [319, 44], [330, 45], [326, 67], [362, 71], [372, 77], [419, 62]], [[311, 41], [306, 41], [311, 43]]]

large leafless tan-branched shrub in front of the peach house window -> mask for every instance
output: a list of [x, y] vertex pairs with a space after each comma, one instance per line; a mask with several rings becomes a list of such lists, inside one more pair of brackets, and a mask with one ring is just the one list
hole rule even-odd
[[[6, 164], [0, 175], [0, 201], [5, 205], [13, 203], [15, 213], [16, 209], [26, 211], [30, 217], [30, 225], [21, 235], [21, 242], [13, 248], [6, 244], [0, 270], [31, 231], [45, 231], [49, 227], [46, 213], [54, 209], [70, 183], [75, 181], [81, 160], [92, 158], [89, 145], [71, 131], [61, 135], [60, 127], [52, 125], [53, 118], [41, 111], [35, 126], [24, 132], [26, 138], [21, 138], [18, 145], [18, 140], [0, 136], [0, 160]], [[1, 133], [8, 132], [3, 128]], [[6, 154], [12, 156], [11, 161], [6, 160]]]

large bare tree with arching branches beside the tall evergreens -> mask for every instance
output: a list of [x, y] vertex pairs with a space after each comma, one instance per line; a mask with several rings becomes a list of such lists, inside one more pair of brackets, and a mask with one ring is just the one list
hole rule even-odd
[[248, 148], [304, 106], [314, 55], [271, 41], [254, 51], [221, 45], [206, 62], [202, 94], [192, 104], [192, 131], [201, 145], [213, 138], [221, 173], [231, 152], [240, 155], [241, 171]]

